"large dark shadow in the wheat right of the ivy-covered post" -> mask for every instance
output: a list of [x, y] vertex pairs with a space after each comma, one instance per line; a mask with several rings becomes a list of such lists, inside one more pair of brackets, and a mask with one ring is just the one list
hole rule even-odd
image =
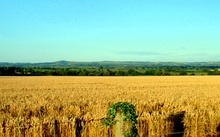
[[167, 120], [173, 122], [173, 134], [171, 137], [183, 137], [184, 135], [184, 119], [185, 111], [171, 114]]

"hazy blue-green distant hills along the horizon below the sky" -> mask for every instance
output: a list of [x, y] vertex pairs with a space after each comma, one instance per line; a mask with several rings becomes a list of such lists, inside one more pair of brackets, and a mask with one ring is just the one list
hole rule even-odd
[[42, 63], [9, 63], [0, 62], [0, 67], [40, 67], [40, 68], [73, 68], [73, 67], [105, 67], [105, 68], [161, 68], [161, 67], [196, 67], [196, 68], [220, 68], [220, 62], [144, 62], [144, 61], [100, 61], [100, 62], [75, 62], [56, 61]]

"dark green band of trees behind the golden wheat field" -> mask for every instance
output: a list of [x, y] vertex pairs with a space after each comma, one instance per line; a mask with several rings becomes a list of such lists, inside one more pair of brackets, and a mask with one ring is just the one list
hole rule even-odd
[[187, 68], [26, 68], [0, 67], [0, 76], [171, 76], [220, 75], [219, 69]]

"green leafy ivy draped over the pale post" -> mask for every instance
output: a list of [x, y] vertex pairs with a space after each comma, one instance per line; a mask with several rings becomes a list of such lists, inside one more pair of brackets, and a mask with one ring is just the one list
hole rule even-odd
[[130, 121], [131, 122], [131, 134], [126, 134], [126, 137], [137, 137], [138, 136], [138, 130], [136, 128], [137, 124], [137, 114], [135, 110], [135, 106], [133, 104], [130, 104], [128, 102], [118, 102], [110, 106], [108, 109], [107, 118], [104, 118], [102, 120], [102, 123], [106, 126], [112, 126], [116, 124], [116, 114], [121, 113], [124, 118], [123, 121]]

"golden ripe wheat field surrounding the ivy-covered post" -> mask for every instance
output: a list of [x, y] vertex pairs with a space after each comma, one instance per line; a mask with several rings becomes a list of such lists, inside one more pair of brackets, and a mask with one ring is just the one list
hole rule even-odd
[[117, 102], [140, 137], [220, 136], [219, 76], [0, 77], [0, 136], [114, 136], [101, 121]]

